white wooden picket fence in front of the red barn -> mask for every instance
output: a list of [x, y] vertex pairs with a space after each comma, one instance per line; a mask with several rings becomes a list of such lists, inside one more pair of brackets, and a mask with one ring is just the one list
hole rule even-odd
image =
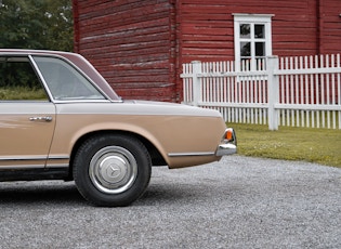
[[235, 62], [183, 65], [183, 103], [219, 110], [227, 122], [341, 129], [340, 54], [271, 56], [250, 71]]

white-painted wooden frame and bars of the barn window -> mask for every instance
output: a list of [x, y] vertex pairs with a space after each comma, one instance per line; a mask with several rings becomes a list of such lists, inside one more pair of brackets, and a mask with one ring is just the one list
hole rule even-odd
[[[251, 64], [249, 70], [257, 70], [257, 62], [255, 62], [255, 41], [264, 41], [265, 42], [265, 57], [271, 56], [272, 51], [272, 17], [273, 14], [240, 14], [234, 13], [234, 42], [235, 42], [235, 66], [236, 69], [240, 70], [240, 42], [248, 41], [251, 42]], [[240, 24], [251, 24], [251, 37], [244, 39], [240, 38]], [[254, 25], [264, 25], [265, 28], [265, 38], [264, 39], [254, 39]]]

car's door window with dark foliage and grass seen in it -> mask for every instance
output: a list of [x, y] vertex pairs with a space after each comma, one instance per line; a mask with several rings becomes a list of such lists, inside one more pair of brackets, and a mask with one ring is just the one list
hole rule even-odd
[[0, 56], [0, 101], [48, 101], [27, 56]]

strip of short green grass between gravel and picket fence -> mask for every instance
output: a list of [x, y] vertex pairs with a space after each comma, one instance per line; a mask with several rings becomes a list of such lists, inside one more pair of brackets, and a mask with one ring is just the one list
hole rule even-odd
[[341, 130], [228, 123], [236, 130], [238, 154], [304, 160], [341, 168]]

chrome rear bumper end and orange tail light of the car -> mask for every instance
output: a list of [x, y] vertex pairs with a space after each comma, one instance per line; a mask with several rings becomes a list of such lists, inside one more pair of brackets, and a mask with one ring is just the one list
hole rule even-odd
[[221, 157], [237, 153], [237, 136], [233, 128], [225, 130], [224, 136], [220, 145], [218, 145], [215, 156]]

